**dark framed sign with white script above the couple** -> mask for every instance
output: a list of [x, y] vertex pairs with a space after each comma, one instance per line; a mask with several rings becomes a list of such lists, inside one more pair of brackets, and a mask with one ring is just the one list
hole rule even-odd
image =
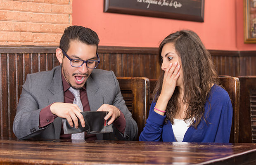
[[204, 22], [204, 0], [104, 0], [104, 12]]

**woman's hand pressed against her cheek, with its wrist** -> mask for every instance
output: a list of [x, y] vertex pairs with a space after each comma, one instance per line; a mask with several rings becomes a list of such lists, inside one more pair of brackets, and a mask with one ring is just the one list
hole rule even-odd
[[180, 76], [180, 65], [175, 62], [174, 64], [170, 63], [166, 68], [164, 73], [163, 86], [161, 90], [161, 94], [159, 97], [161, 99], [165, 99], [169, 101], [173, 95], [173, 92], [176, 87], [176, 82]]

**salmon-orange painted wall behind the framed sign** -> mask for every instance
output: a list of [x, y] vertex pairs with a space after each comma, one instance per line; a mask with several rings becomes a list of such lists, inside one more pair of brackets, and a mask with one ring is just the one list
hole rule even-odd
[[256, 50], [244, 44], [242, 0], [205, 0], [204, 22], [104, 13], [104, 0], [73, 0], [73, 24], [89, 27], [100, 45], [158, 47], [180, 29], [195, 31], [210, 50]]

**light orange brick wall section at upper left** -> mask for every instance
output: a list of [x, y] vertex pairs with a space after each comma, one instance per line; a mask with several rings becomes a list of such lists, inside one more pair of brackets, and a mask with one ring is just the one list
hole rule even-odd
[[0, 45], [59, 45], [72, 0], [0, 0]]

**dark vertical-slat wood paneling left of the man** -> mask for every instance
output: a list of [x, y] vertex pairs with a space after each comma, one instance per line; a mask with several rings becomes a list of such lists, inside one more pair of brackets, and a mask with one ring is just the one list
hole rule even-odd
[[0, 136], [15, 138], [12, 125], [26, 75], [51, 70], [53, 61], [59, 64], [55, 54], [45, 53], [1, 53], [0, 59]]

